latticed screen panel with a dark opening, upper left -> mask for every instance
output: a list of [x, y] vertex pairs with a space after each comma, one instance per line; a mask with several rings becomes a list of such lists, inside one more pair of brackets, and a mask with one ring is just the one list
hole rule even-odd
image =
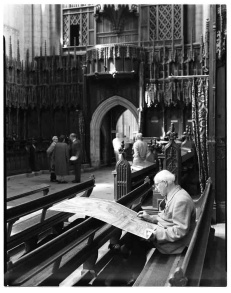
[[94, 44], [93, 5], [64, 5], [63, 6], [63, 46], [73, 45], [71, 27], [77, 26], [78, 40], [76, 46]]

